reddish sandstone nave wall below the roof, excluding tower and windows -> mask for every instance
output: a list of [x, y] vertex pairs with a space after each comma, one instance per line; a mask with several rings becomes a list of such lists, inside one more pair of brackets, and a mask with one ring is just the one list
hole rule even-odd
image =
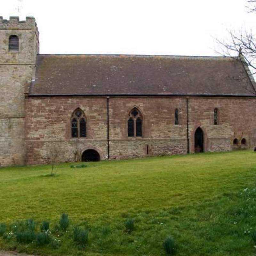
[[[204, 131], [205, 151], [226, 151], [233, 148], [236, 137], [246, 138], [247, 147], [256, 142], [254, 99], [190, 98], [189, 148], [194, 151], [194, 132]], [[101, 159], [107, 157], [107, 100], [95, 98], [28, 98], [26, 109], [27, 164], [44, 163], [52, 143], [63, 149], [63, 162], [74, 161], [76, 148], [96, 149]], [[143, 137], [127, 137], [129, 111], [138, 107], [143, 114]], [[80, 107], [84, 110], [88, 137], [72, 139], [70, 117]], [[174, 124], [174, 110], [179, 109], [179, 125]], [[219, 109], [220, 123], [213, 124], [213, 110]], [[255, 128], [254, 128], [255, 127]], [[110, 97], [110, 158], [185, 154], [187, 153], [186, 98], [179, 97]], [[148, 155], [147, 155], [148, 147]]]

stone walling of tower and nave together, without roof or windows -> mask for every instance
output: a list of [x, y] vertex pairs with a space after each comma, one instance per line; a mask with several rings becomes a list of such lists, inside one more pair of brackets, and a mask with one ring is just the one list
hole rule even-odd
[[[9, 52], [9, 36], [19, 37], [19, 51]], [[0, 17], [0, 165], [46, 163], [49, 149], [57, 146], [61, 162], [76, 161], [77, 154], [95, 149], [108, 156], [106, 97], [29, 97], [35, 79], [39, 32], [34, 18]], [[187, 110], [188, 100], [188, 110]], [[87, 138], [71, 138], [71, 115], [81, 108], [87, 121]], [[128, 113], [142, 113], [142, 138], [127, 137]], [[194, 152], [194, 134], [204, 132], [204, 151], [227, 151], [256, 146], [254, 98], [226, 97], [110, 97], [110, 159]], [[174, 124], [174, 111], [179, 124]], [[214, 108], [219, 124], [214, 125]], [[188, 116], [187, 116], [188, 111]], [[233, 140], [238, 139], [238, 145]], [[242, 145], [241, 140], [246, 140]]]

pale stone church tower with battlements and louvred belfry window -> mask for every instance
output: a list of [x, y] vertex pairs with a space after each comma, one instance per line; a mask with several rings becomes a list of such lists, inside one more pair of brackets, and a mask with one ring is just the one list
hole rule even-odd
[[0, 17], [0, 166], [25, 163], [25, 94], [38, 53], [35, 18]]

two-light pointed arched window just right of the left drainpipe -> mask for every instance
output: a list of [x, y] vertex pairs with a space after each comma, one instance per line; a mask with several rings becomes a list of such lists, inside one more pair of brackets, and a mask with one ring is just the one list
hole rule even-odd
[[132, 108], [127, 121], [128, 137], [142, 137], [143, 122], [142, 115], [138, 108]]

